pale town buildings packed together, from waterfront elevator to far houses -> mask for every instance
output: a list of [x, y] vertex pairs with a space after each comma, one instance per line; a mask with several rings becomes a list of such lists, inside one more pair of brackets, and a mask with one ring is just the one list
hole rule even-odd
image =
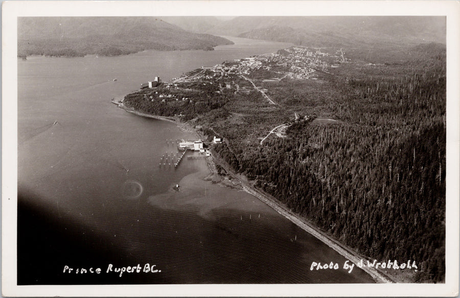
[[[320, 49], [293, 46], [282, 49], [276, 54], [254, 56], [226, 61], [213, 67], [197, 68], [183, 74], [180, 78], [173, 79], [171, 83], [166, 83], [162, 90], [145, 96], [152, 102], [160, 100], [163, 102], [190, 101], [192, 103], [196, 96], [192, 96], [194, 93], [190, 93], [191, 90], [195, 92], [205, 89], [206, 91], [214, 90], [216, 93], [222, 93], [224, 88], [236, 87], [235, 92], [249, 94], [254, 88], [252, 86], [240, 87], [238, 77], [251, 77], [252, 73], [259, 71], [257, 78], [263, 81], [275, 82], [283, 78], [315, 80], [317, 79], [317, 71], [327, 72], [329, 68], [338, 67], [338, 63], [346, 60], [342, 49], [329, 54], [321, 52]], [[154, 88], [160, 83], [162, 83], [160, 78], [155, 77], [153, 81], [141, 84], [141, 88]], [[210, 86], [212, 88], [208, 88]], [[175, 92], [173, 92], [174, 89]], [[267, 90], [262, 91], [266, 92]]]

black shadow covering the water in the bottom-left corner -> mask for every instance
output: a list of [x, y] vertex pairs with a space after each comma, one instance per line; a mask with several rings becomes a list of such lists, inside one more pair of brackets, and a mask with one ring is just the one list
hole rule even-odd
[[[40, 202], [37, 204], [37, 202]], [[83, 285], [83, 284], [169, 284], [165, 275], [141, 272], [106, 273], [108, 264], [114, 267], [133, 266], [141, 262], [130, 254], [120, 240], [110, 235], [110, 229], [76, 220], [65, 207], [43, 204], [36, 195], [18, 191], [17, 214], [17, 284], [18, 285]], [[127, 210], [129, 212], [129, 210]], [[141, 214], [142, 216], [142, 214]], [[104, 229], [103, 229], [104, 230]], [[147, 261], [148, 262], [148, 261]], [[153, 263], [150, 262], [150, 265]], [[74, 268], [63, 273], [64, 266]], [[145, 264], [141, 262], [141, 266]], [[85, 274], [76, 269], [85, 268]], [[89, 269], [101, 268], [100, 274]], [[68, 272], [68, 270], [67, 270]]]

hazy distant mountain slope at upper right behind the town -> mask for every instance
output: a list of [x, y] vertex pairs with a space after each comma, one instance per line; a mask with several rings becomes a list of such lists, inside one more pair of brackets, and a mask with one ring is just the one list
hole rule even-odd
[[207, 31], [306, 46], [446, 43], [445, 32], [437, 16], [241, 16]]

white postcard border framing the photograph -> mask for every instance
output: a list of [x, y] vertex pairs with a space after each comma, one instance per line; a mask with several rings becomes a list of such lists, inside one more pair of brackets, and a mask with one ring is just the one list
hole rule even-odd
[[[458, 295], [460, 2], [457, 1], [11, 1], [2, 11], [2, 292], [6, 296], [455, 296]], [[18, 16], [447, 16], [445, 284], [17, 286]], [[21, 268], [27, 270], [27, 268]]]

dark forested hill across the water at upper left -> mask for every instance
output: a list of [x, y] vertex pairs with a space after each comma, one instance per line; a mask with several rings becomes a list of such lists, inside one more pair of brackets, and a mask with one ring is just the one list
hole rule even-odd
[[212, 49], [231, 41], [156, 17], [20, 17], [18, 56], [121, 55], [148, 49]]

